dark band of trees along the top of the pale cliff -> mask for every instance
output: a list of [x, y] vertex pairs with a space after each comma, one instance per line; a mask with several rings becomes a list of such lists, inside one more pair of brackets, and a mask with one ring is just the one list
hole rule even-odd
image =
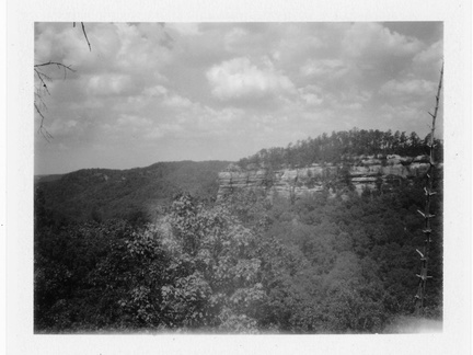
[[[353, 128], [348, 131], [333, 131], [332, 135], [322, 134], [316, 138], [298, 140], [286, 148], [262, 149], [257, 153], [239, 161], [241, 168], [251, 165], [280, 169], [282, 167], [309, 167], [313, 163], [337, 163], [350, 156], [399, 154], [416, 157], [428, 153], [427, 142], [430, 135], [420, 139], [413, 131]], [[435, 154], [442, 158], [442, 141], [436, 139]]]

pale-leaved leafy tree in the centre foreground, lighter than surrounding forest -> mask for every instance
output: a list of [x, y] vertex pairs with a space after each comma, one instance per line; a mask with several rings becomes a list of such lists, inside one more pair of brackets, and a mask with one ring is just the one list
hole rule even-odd
[[169, 222], [174, 282], [164, 302], [173, 318], [191, 328], [255, 331], [265, 298], [256, 236], [224, 206], [207, 209], [188, 194], [176, 196]]

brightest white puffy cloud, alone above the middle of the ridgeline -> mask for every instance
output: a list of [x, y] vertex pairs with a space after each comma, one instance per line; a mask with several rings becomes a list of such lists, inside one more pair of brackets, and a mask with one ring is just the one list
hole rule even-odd
[[269, 59], [262, 68], [241, 57], [214, 66], [206, 73], [211, 93], [220, 100], [262, 98], [293, 91], [288, 77], [275, 70]]

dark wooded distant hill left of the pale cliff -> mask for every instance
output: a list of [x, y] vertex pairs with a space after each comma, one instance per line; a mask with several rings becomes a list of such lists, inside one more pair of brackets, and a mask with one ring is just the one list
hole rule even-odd
[[35, 207], [49, 218], [104, 220], [149, 219], [176, 193], [215, 198], [217, 174], [229, 161], [159, 162], [129, 170], [83, 169], [64, 175], [35, 176]]

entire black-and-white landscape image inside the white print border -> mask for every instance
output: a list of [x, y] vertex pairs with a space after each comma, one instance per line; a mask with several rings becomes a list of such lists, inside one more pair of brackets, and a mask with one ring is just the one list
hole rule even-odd
[[36, 22], [34, 333], [441, 332], [442, 79], [442, 22]]

